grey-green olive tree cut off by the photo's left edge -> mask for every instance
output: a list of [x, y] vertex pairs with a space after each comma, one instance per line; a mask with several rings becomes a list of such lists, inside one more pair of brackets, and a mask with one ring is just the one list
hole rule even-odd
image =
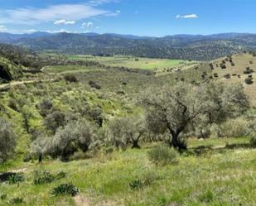
[[0, 163], [12, 156], [16, 146], [16, 137], [12, 125], [0, 117]]

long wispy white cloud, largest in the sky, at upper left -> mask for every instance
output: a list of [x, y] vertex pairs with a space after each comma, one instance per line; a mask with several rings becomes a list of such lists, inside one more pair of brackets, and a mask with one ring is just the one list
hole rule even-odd
[[[55, 22], [72, 19], [79, 21], [89, 17], [99, 17], [112, 12], [86, 4], [59, 4], [46, 8], [17, 8], [0, 10], [0, 22], [21, 25], [36, 25], [41, 22]], [[72, 23], [71, 21], [69, 23]]]

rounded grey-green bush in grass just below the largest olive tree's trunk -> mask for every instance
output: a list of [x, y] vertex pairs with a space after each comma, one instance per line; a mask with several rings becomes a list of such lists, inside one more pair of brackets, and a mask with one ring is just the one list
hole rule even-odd
[[156, 146], [147, 152], [149, 160], [156, 165], [168, 165], [177, 163], [178, 153], [168, 146]]

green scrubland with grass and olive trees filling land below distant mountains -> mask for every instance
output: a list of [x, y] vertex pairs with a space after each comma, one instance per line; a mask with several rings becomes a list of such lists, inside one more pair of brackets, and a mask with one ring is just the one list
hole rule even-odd
[[0, 205], [256, 204], [254, 54], [34, 58], [0, 93]]

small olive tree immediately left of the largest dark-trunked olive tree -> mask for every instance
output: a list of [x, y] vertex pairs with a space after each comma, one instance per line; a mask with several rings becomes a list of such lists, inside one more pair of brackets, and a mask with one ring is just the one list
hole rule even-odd
[[132, 144], [132, 148], [140, 148], [138, 142], [146, 132], [143, 117], [118, 117], [109, 123], [111, 139], [117, 147]]

